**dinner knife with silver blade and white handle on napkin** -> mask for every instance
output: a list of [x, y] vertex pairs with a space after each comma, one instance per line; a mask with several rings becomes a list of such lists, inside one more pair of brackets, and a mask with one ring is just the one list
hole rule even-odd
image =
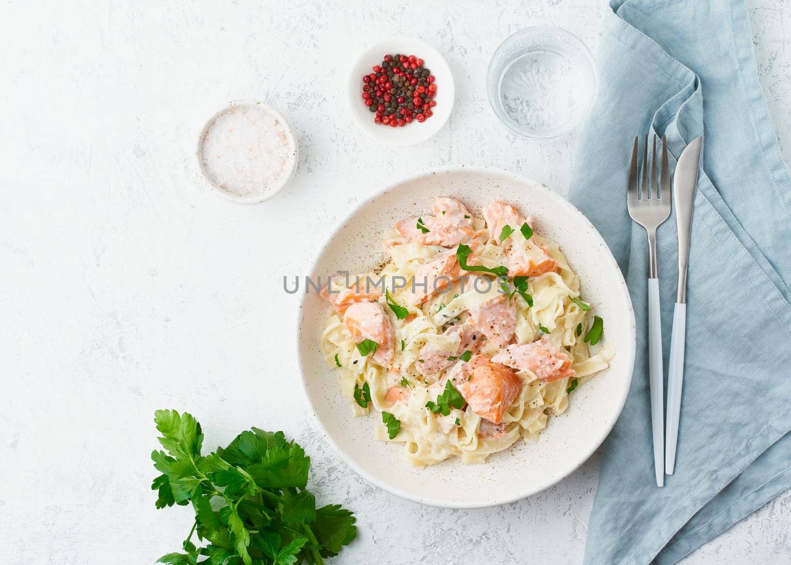
[[694, 138], [681, 153], [673, 177], [673, 206], [676, 207], [676, 226], [679, 230], [679, 285], [676, 308], [673, 310], [673, 330], [670, 337], [668, 366], [668, 418], [664, 438], [664, 472], [673, 474], [676, 467], [676, 443], [679, 438], [681, 385], [684, 374], [684, 341], [687, 332], [687, 265], [690, 254], [690, 230], [694, 193], [698, 185], [698, 167], [703, 138]]

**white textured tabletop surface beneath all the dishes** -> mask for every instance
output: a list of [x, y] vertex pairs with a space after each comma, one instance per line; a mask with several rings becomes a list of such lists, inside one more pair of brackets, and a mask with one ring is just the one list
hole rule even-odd
[[[0, 561], [151, 563], [191, 510], [155, 510], [156, 408], [191, 411], [206, 445], [282, 429], [312, 456], [320, 502], [358, 516], [339, 563], [578, 563], [598, 457], [530, 499], [451, 511], [355, 476], [305, 413], [297, 297], [327, 230], [424, 167], [496, 165], [566, 194], [573, 136], [535, 144], [490, 112], [486, 63], [526, 25], [595, 48], [604, 0], [4, 2], [0, 8]], [[749, 0], [759, 74], [791, 154], [791, 5]], [[376, 6], [387, 6], [379, 9]], [[375, 146], [346, 112], [349, 58], [383, 34], [445, 53], [457, 99], [421, 146]], [[301, 163], [269, 203], [240, 207], [196, 169], [204, 121], [229, 100], [279, 108]], [[602, 140], [607, 142], [607, 140]], [[791, 494], [687, 563], [788, 563]]]

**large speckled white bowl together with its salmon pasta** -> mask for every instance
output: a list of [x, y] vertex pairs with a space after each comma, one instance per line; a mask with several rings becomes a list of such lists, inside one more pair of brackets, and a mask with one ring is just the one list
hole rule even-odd
[[623, 408], [623, 277], [584, 216], [542, 185], [487, 170], [407, 180], [353, 214], [313, 276], [308, 400], [346, 461], [404, 498], [469, 507], [532, 494], [585, 461]]

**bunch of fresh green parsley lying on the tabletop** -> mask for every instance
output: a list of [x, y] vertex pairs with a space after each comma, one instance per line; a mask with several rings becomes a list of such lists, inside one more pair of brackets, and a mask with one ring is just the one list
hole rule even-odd
[[[310, 457], [282, 431], [254, 427], [225, 449], [202, 455], [203, 434], [191, 414], [157, 410], [154, 421], [167, 452], [151, 453], [162, 473], [151, 485], [159, 492], [157, 508], [191, 503], [195, 509], [184, 552], [157, 563], [314, 565], [357, 535], [349, 510], [316, 508], [305, 488]], [[204, 547], [191, 541], [193, 533]]]

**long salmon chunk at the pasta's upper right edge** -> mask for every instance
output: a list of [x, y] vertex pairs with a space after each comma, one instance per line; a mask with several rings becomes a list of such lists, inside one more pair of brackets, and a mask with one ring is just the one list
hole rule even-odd
[[514, 230], [511, 237], [501, 244], [505, 247], [509, 277], [537, 277], [558, 268], [557, 261], [549, 256], [543, 245], [536, 243], [532, 238], [525, 240], [520, 236], [519, 229], [527, 220], [519, 210], [510, 204], [495, 200], [483, 207], [483, 218], [486, 219], [489, 236], [496, 241], [500, 241], [500, 233], [504, 226], [510, 226]]

